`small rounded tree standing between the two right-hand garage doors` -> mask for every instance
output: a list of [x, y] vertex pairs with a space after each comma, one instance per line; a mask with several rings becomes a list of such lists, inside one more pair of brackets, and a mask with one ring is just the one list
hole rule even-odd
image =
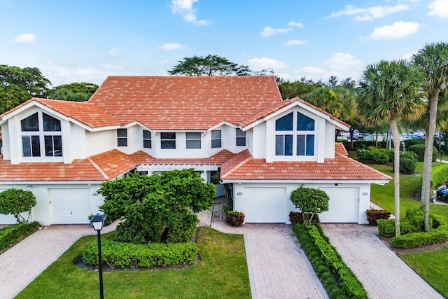
[[315, 214], [328, 211], [328, 202], [330, 201], [330, 197], [325, 191], [303, 186], [293, 190], [289, 199], [302, 212], [302, 224], [311, 224]]

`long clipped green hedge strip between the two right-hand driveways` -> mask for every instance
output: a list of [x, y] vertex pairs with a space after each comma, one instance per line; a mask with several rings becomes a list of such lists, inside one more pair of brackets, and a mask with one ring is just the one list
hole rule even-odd
[[[293, 225], [293, 230], [330, 298], [367, 298], [363, 285], [344, 264], [321, 230], [315, 225], [300, 224]], [[332, 284], [335, 281], [339, 286]]]

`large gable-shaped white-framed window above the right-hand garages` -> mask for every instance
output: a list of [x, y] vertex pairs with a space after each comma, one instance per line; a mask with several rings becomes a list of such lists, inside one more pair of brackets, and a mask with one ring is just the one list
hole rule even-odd
[[275, 121], [275, 131], [275, 155], [314, 155], [314, 119], [291, 112]]

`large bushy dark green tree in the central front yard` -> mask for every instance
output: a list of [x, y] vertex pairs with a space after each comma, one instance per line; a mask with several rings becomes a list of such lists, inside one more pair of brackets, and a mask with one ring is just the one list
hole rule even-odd
[[104, 214], [111, 221], [124, 218], [116, 230], [118, 241], [187, 242], [198, 222], [192, 211], [213, 205], [215, 186], [193, 169], [183, 169], [107, 181], [99, 193], [105, 197]]

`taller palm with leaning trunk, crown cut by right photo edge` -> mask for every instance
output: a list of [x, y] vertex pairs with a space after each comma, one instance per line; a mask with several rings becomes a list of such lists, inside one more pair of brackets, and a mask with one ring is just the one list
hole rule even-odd
[[423, 183], [421, 186], [420, 207], [423, 209], [425, 230], [429, 227], [429, 197], [431, 165], [433, 162], [433, 143], [435, 120], [439, 93], [447, 85], [448, 78], [448, 43], [430, 43], [412, 56], [412, 61], [426, 75], [426, 91], [428, 92], [429, 122], [426, 125], [425, 157], [423, 160]]

